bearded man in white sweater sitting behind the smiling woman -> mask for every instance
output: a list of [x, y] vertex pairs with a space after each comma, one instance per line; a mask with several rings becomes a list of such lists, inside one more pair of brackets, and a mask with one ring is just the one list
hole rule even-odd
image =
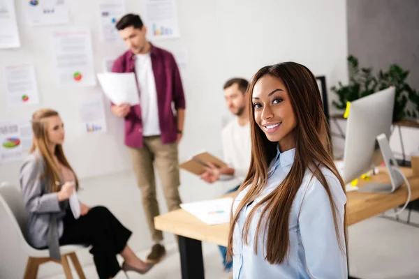
[[[224, 84], [224, 98], [235, 119], [230, 121], [222, 132], [224, 160], [227, 167], [217, 168], [211, 165], [201, 178], [208, 183], [219, 180], [237, 179], [239, 185], [228, 191], [235, 192], [246, 178], [250, 166], [251, 138], [249, 123], [249, 82], [242, 78], [233, 78]], [[223, 255], [223, 264], [226, 271], [230, 271], [232, 262], [226, 261], [226, 247], [219, 246]]]

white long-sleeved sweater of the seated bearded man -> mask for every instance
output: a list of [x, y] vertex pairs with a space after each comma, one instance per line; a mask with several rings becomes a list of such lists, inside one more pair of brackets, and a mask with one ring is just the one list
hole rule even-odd
[[235, 169], [234, 176], [242, 183], [250, 166], [250, 123], [240, 126], [236, 117], [223, 128], [222, 141], [224, 160], [229, 167]]

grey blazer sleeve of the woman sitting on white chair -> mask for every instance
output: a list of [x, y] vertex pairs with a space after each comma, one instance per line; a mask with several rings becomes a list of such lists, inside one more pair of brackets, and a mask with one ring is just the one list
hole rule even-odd
[[25, 207], [32, 213], [56, 213], [60, 211], [57, 193], [42, 194], [43, 166], [41, 160], [29, 156], [20, 169], [20, 186]]

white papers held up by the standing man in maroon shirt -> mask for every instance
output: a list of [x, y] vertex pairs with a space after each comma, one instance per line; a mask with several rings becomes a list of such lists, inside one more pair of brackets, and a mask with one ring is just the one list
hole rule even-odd
[[98, 80], [105, 96], [115, 105], [140, 103], [135, 73], [98, 73]]

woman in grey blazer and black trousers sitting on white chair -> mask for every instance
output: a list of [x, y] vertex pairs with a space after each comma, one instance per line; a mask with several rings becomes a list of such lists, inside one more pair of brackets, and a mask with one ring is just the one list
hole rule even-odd
[[54, 110], [38, 110], [32, 117], [34, 144], [20, 170], [20, 185], [28, 213], [27, 237], [35, 248], [48, 247], [50, 257], [61, 259], [59, 246], [87, 244], [99, 278], [112, 278], [122, 269], [146, 273], [152, 265], [139, 259], [127, 241], [131, 232], [103, 206], [89, 208], [80, 203], [75, 218], [68, 199], [78, 190], [78, 179], [61, 146], [64, 124]]

